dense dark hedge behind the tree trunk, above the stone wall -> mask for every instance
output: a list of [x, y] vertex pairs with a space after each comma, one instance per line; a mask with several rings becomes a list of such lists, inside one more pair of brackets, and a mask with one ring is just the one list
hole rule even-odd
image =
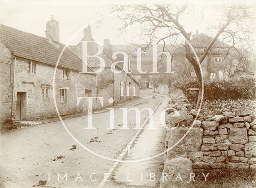
[[[240, 75], [222, 80], [207, 80], [204, 84], [206, 85], [204, 100], [255, 99], [256, 85], [253, 76]], [[189, 89], [199, 88], [196, 78], [169, 78], [168, 86], [170, 90], [181, 89], [190, 102], [197, 100], [198, 92]]]

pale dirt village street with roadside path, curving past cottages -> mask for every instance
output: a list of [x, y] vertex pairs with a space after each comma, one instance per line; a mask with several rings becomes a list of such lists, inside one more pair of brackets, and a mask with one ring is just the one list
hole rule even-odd
[[[114, 130], [107, 129], [109, 127], [109, 112], [93, 115], [93, 127], [96, 129], [84, 129], [87, 125], [87, 116], [66, 119], [64, 120], [64, 123], [70, 133], [85, 147], [88, 147], [88, 149], [98, 155], [117, 159], [138, 131], [138, 129], [134, 129], [136, 123], [134, 110], [128, 114], [129, 129], [121, 129], [121, 108], [138, 108], [139, 110], [142, 110], [143, 108], [152, 108], [154, 110], [158, 105], [167, 106], [168, 104], [166, 104], [166, 100], [168, 100], [166, 97], [165, 100], [161, 102], [162, 96], [155, 96], [153, 99], [152, 94], [149, 94], [150, 92], [152, 91], [141, 90], [140, 99], [114, 109]], [[158, 112], [158, 115], [159, 113], [160, 112]], [[148, 111], [144, 110], [141, 113], [141, 124], [144, 123], [147, 118]], [[159, 121], [159, 118], [160, 117], [154, 117], [154, 121]], [[149, 131], [150, 129], [144, 129], [141, 132], [146, 130]], [[156, 129], [151, 131], [156, 131]], [[135, 139], [136, 142], [141, 142], [138, 143], [138, 145], [145, 145], [147, 139], [148, 141], [150, 139], [153, 141], [151, 141], [150, 144], [154, 145], [153, 147], [150, 146], [148, 148], [155, 150], [156, 154], [158, 152], [162, 152], [164, 150], [164, 143], [162, 142], [164, 139], [163, 130], [161, 129], [156, 132], [158, 135], [157, 140], [154, 139], [154, 132], [145, 133], [151, 134], [152, 136], [145, 137], [145, 139], [143, 138], [142, 133], [140, 133], [142, 139], [140, 139], [140, 137]], [[73, 147], [72, 149], [72, 145], [76, 145], [77, 148], [74, 149]], [[140, 145], [138, 148], [148, 149], [146, 145], [144, 147], [141, 147]], [[134, 149], [136, 150], [136, 147], [134, 147]], [[148, 155], [152, 155], [150, 154], [150, 151], [143, 151], [142, 149], [141, 153], [145, 154], [145, 152], [148, 152]], [[127, 153], [126, 157], [128, 155]], [[134, 151], [134, 155], [136, 155], [136, 153], [140, 153], [140, 151]], [[138, 159], [140, 156], [135, 156], [133, 158]], [[163, 161], [163, 156], [161, 155], [153, 161], [153, 166], [156, 168], [153, 169], [153, 172], [158, 173], [159, 171], [159, 173], [156, 174], [156, 181], [154, 182], [154, 184], [156, 184], [159, 174], [161, 173], [160, 164]], [[104, 181], [104, 173], [108, 172], [113, 164], [114, 161], [98, 157], [82, 148], [68, 134], [60, 121], [27, 127], [24, 129], [16, 129], [14, 131], [1, 134], [0, 187], [27, 188], [32, 187], [33, 185], [38, 185], [40, 180], [47, 180], [47, 183], [44, 186], [51, 188], [96, 187], [99, 186], [100, 182]], [[140, 163], [134, 163], [134, 165], [138, 167], [140, 166]], [[117, 165], [114, 170], [112, 169], [112, 171], [122, 172], [122, 169], [127, 166], [126, 163], [122, 163], [121, 166]], [[119, 167], [120, 169], [118, 170]], [[67, 173], [67, 181], [66, 178], [63, 178], [62, 180], [61, 177], [59, 177], [58, 181], [58, 173], [61, 177], [64, 177]], [[80, 177], [77, 178], [77, 176], [79, 176], [78, 173]], [[144, 173], [144, 170], [140, 173]], [[114, 176], [113, 173], [109, 178], [110, 182], [103, 182], [103, 184], [101, 183], [101, 186], [126, 187], [127, 182], [125, 179], [127, 175], [125, 172], [123, 174], [124, 176], [122, 176], [122, 173], [121, 175], [115, 174]], [[144, 176], [149, 176], [148, 172], [147, 174], [144, 174]], [[137, 178], [140, 180], [140, 177]], [[148, 177], [145, 179], [148, 179]], [[134, 181], [136, 182], [136, 180]], [[137, 185], [143, 186], [143, 184], [146, 187], [148, 186], [148, 183], [149, 182], [134, 184], [129, 187], [136, 187]], [[152, 186], [154, 186], [154, 184], [152, 184]]]

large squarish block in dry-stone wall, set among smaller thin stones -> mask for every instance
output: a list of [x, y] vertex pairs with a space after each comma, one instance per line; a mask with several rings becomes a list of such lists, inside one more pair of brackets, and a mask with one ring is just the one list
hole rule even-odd
[[245, 144], [248, 142], [246, 127], [231, 127], [229, 130], [229, 141], [234, 144]]

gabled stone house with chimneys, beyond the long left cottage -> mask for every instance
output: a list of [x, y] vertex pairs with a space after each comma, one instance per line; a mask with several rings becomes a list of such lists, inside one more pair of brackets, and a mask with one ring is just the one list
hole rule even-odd
[[[94, 41], [92, 38], [92, 30], [90, 25], [84, 28], [84, 37], [78, 45], [71, 47], [72, 50], [80, 57], [83, 58], [82, 41]], [[87, 54], [95, 55], [98, 51], [96, 43], [88, 42]], [[115, 70], [119, 73], [111, 71], [111, 65], [116, 61], [124, 61], [124, 57], [118, 54], [116, 59], [112, 59], [112, 45], [109, 39], [104, 39], [103, 51], [99, 55], [105, 61], [105, 68], [103, 71], [98, 72], [97, 76], [97, 96], [104, 96], [104, 105], [110, 106], [108, 99], [113, 98], [115, 103], [126, 101], [132, 98], [139, 97], [140, 85], [134, 78], [132, 73], [126, 73], [123, 70], [123, 62], [117, 63]], [[95, 57], [88, 57], [87, 64], [94, 71], [99, 70], [100, 62]]]

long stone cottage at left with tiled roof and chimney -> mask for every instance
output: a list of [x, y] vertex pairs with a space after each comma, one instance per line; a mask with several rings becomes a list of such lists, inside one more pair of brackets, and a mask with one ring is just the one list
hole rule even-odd
[[[46, 37], [0, 25], [1, 96], [0, 119], [35, 120], [87, 111], [79, 96], [96, 96], [96, 73], [69, 48], [59, 42], [59, 22], [53, 16], [46, 23]], [[55, 86], [53, 85], [55, 78]], [[55, 92], [55, 96], [53, 96]], [[96, 107], [95, 107], [96, 108]]]

